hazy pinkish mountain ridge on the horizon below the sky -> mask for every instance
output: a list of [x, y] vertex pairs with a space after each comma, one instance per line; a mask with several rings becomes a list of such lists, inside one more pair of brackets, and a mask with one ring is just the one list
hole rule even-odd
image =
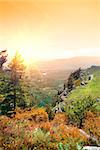
[[81, 56], [38, 63], [40, 70], [75, 70], [79, 67], [88, 68], [90, 66], [100, 66], [100, 57]]

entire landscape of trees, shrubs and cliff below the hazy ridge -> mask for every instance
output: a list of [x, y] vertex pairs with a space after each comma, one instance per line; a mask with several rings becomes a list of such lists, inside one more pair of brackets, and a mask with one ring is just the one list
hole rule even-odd
[[0, 150], [99, 148], [100, 67], [50, 73], [0, 52]]

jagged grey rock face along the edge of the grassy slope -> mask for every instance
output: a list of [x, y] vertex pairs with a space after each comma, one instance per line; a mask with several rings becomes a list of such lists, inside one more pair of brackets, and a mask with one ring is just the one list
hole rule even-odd
[[58, 91], [58, 96], [60, 97], [61, 101], [64, 101], [64, 99], [67, 98], [68, 94], [72, 90], [76, 89], [76, 87], [85, 86], [89, 83], [90, 80], [93, 80], [93, 73], [98, 70], [100, 70], [100, 66], [93, 65], [90, 68], [84, 70], [81, 70], [81, 68], [79, 68], [78, 70], [72, 72], [64, 83], [63, 88]]

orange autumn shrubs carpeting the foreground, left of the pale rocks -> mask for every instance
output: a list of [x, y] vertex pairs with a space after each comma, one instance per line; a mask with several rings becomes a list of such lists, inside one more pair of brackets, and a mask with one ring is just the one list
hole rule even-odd
[[0, 117], [0, 147], [7, 150], [36, 148], [57, 150], [58, 144], [69, 143], [76, 149], [76, 143], [86, 142], [77, 127], [69, 126], [64, 113], [55, 115], [49, 121], [44, 109], [19, 110], [14, 118]]

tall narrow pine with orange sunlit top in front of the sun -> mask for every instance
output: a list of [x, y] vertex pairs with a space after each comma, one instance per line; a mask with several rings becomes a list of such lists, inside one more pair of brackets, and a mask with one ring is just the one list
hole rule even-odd
[[16, 108], [16, 103], [19, 100], [19, 103], [22, 103], [22, 105], [25, 106], [24, 101], [24, 91], [22, 87], [23, 82], [23, 76], [25, 71], [25, 66], [23, 64], [23, 60], [21, 58], [21, 55], [16, 52], [14, 58], [12, 59], [11, 63], [9, 64], [9, 68], [11, 70], [10, 73], [10, 87], [11, 92], [13, 95], [14, 100], [14, 109]]

